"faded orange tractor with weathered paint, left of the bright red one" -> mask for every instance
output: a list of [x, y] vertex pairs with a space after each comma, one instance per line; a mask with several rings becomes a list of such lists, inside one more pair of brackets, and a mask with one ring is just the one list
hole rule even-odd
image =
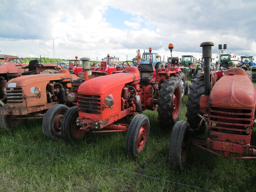
[[[89, 58], [81, 58], [89, 78], [99, 76], [92, 72]], [[36, 70], [50, 69], [50, 64], [38, 64]], [[56, 64], [55, 64], [56, 67]], [[59, 68], [57, 68], [59, 69]], [[103, 75], [106, 75], [104, 73]], [[2, 107], [2, 127], [10, 130], [29, 118], [43, 118], [44, 134], [51, 139], [61, 137], [60, 123], [68, 107], [77, 101], [77, 90], [83, 79], [60, 69], [54, 74], [34, 74], [11, 79], [6, 84], [7, 104]]]

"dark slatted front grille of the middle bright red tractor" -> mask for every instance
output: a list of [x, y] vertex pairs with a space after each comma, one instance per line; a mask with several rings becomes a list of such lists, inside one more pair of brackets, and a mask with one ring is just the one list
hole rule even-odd
[[78, 94], [79, 111], [90, 114], [101, 114], [100, 96]]

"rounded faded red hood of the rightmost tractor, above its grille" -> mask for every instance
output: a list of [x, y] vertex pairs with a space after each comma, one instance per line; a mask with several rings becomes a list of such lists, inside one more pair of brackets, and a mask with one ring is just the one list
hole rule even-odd
[[210, 106], [254, 108], [255, 88], [245, 70], [231, 68], [216, 82], [210, 93]]

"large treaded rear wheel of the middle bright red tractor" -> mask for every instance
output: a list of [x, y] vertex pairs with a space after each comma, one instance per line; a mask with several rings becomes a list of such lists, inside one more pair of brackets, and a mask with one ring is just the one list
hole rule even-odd
[[180, 118], [181, 89], [178, 77], [167, 77], [161, 84], [158, 98], [158, 120], [162, 127], [170, 127]]

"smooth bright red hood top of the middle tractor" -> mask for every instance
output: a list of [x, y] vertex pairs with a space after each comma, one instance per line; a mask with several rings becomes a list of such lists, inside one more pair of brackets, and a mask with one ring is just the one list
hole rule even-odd
[[[101, 95], [109, 92], [113, 88], [124, 86], [126, 83], [138, 84], [140, 74], [136, 67], [128, 67], [126, 71], [111, 74], [107, 76], [100, 76], [84, 82], [78, 88], [78, 93], [82, 94], [96, 94]], [[134, 80], [136, 80], [134, 82]]]

